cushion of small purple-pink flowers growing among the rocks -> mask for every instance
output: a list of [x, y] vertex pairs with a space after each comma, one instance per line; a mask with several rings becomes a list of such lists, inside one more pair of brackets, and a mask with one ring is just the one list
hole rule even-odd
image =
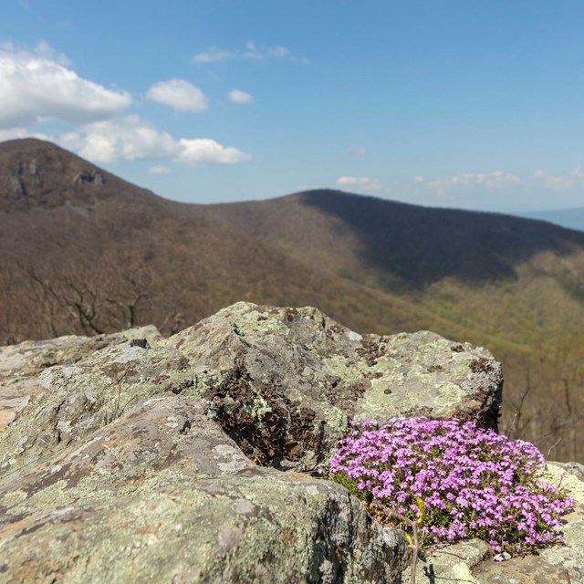
[[573, 503], [536, 480], [545, 461], [533, 444], [458, 420], [351, 425], [330, 477], [381, 523], [406, 528], [396, 514], [417, 521], [422, 546], [481, 537], [518, 555], [563, 541], [558, 518]]

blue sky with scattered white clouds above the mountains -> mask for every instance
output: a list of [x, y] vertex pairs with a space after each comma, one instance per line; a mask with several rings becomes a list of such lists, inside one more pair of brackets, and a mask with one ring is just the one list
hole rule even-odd
[[584, 3], [4, 0], [0, 139], [193, 203], [584, 206]]

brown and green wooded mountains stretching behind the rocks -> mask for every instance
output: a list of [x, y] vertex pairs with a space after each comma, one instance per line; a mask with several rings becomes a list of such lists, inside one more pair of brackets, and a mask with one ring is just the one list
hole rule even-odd
[[0, 144], [0, 265], [2, 343], [170, 334], [243, 299], [484, 345], [505, 366], [503, 429], [584, 460], [584, 233], [336, 191], [174, 203], [25, 140]]

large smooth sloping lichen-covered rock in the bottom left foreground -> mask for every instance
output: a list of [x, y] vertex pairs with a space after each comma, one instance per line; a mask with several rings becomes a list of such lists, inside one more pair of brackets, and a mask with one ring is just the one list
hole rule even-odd
[[339, 485], [247, 459], [159, 396], [0, 489], [0, 582], [393, 582], [407, 561]]

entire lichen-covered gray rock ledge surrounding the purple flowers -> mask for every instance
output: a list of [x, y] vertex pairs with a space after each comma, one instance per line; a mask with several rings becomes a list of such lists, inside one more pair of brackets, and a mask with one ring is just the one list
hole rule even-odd
[[[349, 420], [495, 428], [501, 390], [485, 349], [359, 335], [315, 308], [1, 348], [0, 582], [405, 581], [401, 532], [318, 470]], [[584, 482], [563, 472], [579, 493], [567, 546], [527, 560], [563, 580], [526, 579], [522, 558], [493, 572], [469, 542], [418, 581], [584, 581]]]

